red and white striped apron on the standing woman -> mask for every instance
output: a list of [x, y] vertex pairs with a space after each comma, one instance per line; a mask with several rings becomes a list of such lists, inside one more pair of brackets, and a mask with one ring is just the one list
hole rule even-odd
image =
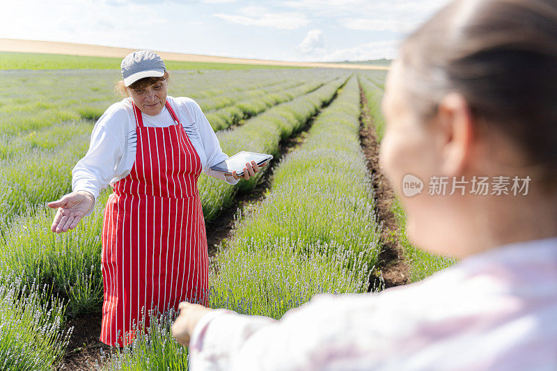
[[123, 347], [149, 310], [206, 305], [208, 257], [197, 189], [201, 159], [171, 105], [175, 125], [145, 127], [134, 104], [137, 147], [130, 174], [104, 210], [100, 340]]

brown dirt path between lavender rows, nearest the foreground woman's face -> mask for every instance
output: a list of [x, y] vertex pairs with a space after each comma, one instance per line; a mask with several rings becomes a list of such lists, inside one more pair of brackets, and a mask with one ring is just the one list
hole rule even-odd
[[369, 113], [366, 94], [360, 86], [361, 116], [360, 142], [362, 150], [368, 159], [368, 171], [372, 175], [375, 190], [375, 208], [378, 221], [382, 224], [380, 243], [382, 251], [375, 278], [370, 280], [370, 290], [373, 287], [389, 288], [408, 283], [409, 267], [404, 260], [402, 246], [398, 241], [398, 223], [391, 206], [395, 194], [389, 180], [379, 170], [379, 145], [375, 136], [375, 127]]

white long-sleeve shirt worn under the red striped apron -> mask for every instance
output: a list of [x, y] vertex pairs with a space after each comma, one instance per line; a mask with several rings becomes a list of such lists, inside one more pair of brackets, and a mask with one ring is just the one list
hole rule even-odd
[[[188, 97], [167, 96], [189, 140], [194, 145], [207, 175], [217, 177], [229, 184], [239, 180], [225, 177], [224, 173], [212, 171], [228, 155], [222, 152], [219, 139], [205, 118], [199, 105]], [[143, 125], [147, 127], [168, 127], [174, 121], [166, 106], [156, 116], [141, 113]], [[72, 170], [73, 191], [88, 191], [95, 200], [100, 191], [109, 184], [127, 176], [132, 170], [136, 157], [136, 120], [131, 98], [114, 103], [97, 120], [91, 143], [85, 157]], [[91, 209], [93, 210], [93, 209]]]

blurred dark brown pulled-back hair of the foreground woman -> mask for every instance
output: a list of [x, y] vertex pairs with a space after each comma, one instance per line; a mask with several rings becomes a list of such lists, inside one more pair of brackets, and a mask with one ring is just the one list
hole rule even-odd
[[524, 148], [557, 177], [557, 1], [460, 0], [400, 49], [407, 93], [421, 118], [444, 95], [464, 96], [482, 125]]

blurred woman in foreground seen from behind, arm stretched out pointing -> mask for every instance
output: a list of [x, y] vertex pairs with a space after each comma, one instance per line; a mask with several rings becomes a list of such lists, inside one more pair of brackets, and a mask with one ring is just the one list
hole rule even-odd
[[402, 44], [383, 108], [407, 234], [460, 264], [280, 321], [181, 303], [194, 370], [557, 370], [557, 1], [451, 2]]

